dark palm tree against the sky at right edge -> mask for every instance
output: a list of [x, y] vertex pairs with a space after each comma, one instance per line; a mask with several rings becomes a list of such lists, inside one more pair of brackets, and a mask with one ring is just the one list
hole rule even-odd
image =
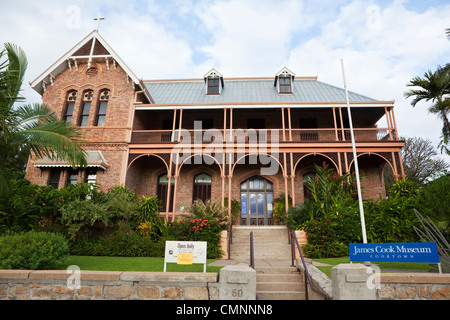
[[423, 78], [414, 77], [408, 84], [408, 87], [418, 87], [418, 89], [411, 89], [405, 92], [405, 97], [414, 97], [411, 101], [413, 107], [419, 101], [425, 100], [433, 103], [428, 111], [433, 114], [437, 114], [443, 121], [442, 127], [442, 141], [440, 142], [441, 151], [445, 151], [450, 154], [447, 148], [450, 138], [450, 64], [445, 67], [438, 67], [435, 72], [428, 71], [424, 74]]

